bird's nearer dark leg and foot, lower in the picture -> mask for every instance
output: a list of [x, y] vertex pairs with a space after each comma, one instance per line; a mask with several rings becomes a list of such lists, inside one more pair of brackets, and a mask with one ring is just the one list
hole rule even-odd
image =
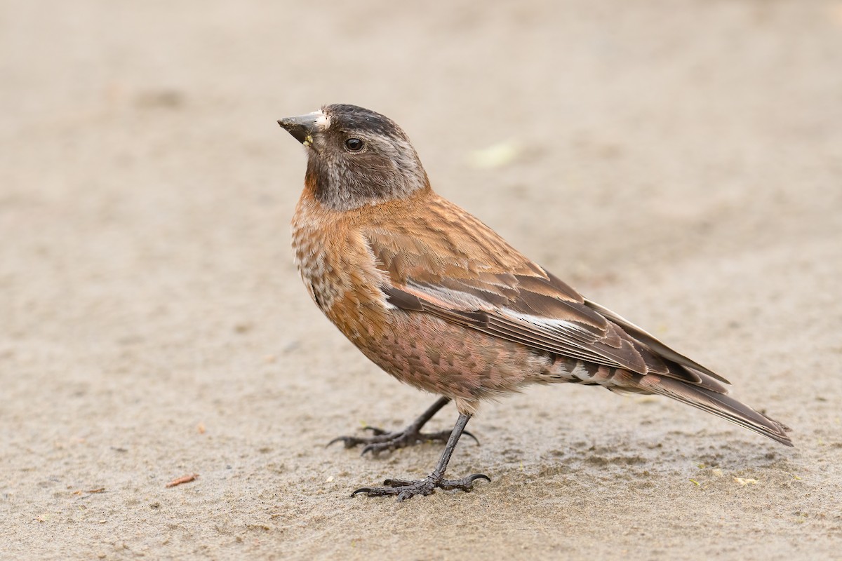
[[386, 479], [386, 481], [383, 482], [386, 487], [360, 487], [360, 489], [355, 490], [351, 493], [351, 495], [353, 496], [357, 493], [365, 493], [365, 495], [370, 497], [397, 495], [397, 500], [407, 500], [413, 498], [415, 495], [431, 495], [436, 487], [443, 490], [459, 489], [463, 491], [470, 491], [473, 489], [473, 482], [477, 479], [486, 479], [487, 481], [491, 481], [488, 475], [485, 474], [472, 474], [467, 477], [463, 477], [462, 479], [445, 479], [447, 463], [450, 462], [450, 456], [453, 455], [453, 449], [456, 447], [456, 442], [459, 442], [459, 437], [461, 437], [462, 432], [465, 431], [465, 426], [468, 424], [469, 419], [471, 419], [471, 415], [466, 415], [465, 413], [459, 414], [456, 426], [453, 427], [453, 431], [450, 432], [450, 438], [447, 440], [445, 452], [441, 454], [439, 463], [435, 465], [433, 473], [429, 474], [424, 479], [416, 479], [414, 481], [408, 481], [406, 479]]

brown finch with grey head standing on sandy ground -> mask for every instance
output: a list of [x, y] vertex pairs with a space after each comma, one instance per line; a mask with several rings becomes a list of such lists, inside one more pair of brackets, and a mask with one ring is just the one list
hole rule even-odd
[[[530, 384], [658, 394], [786, 446], [789, 427], [727, 395], [726, 378], [584, 298], [431, 188], [408, 135], [392, 119], [336, 103], [278, 124], [306, 148], [292, 248], [312, 300], [371, 362], [439, 397], [402, 431], [338, 437], [381, 453], [445, 442], [424, 479], [386, 479], [352, 495], [407, 500], [471, 491], [488, 475], [445, 479], [483, 400]], [[424, 424], [453, 401], [451, 431]]]

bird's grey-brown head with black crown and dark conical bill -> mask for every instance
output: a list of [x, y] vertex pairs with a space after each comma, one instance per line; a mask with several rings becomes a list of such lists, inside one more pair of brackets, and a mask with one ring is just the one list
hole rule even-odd
[[334, 104], [278, 124], [306, 146], [306, 183], [329, 208], [355, 209], [429, 188], [407, 134], [379, 113]]

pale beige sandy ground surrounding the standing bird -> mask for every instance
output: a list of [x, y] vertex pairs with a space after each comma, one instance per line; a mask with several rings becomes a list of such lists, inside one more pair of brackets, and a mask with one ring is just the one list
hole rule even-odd
[[[0, 558], [842, 558], [842, 3], [511, 4], [3, 1]], [[434, 400], [292, 265], [274, 119], [334, 102], [797, 447], [536, 388], [456, 450], [491, 483], [351, 498], [440, 447], [324, 447]]]

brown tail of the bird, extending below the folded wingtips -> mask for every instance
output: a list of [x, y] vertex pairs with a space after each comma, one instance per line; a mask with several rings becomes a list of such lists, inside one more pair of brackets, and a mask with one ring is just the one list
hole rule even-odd
[[788, 426], [758, 413], [749, 405], [745, 405], [725, 394], [687, 384], [674, 378], [665, 378], [653, 374], [642, 376], [639, 378], [638, 384], [642, 389], [653, 394], [666, 395], [687, 405], [693, 405], [739, 426], [744, 426], [749, 431], [762, 434], [764, 437], [769, 437], [786, 446], [792, 446], [790, 437], [786, 436], [786, 431], [790, 430]]

